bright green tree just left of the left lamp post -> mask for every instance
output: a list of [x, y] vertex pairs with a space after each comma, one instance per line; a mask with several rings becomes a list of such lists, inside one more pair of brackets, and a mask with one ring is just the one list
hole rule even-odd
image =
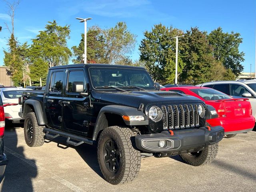
[[32, 39], [31, 54], [40, 57], [49, 67], [68, 64], [72, 55], [67, 46], [70, 38], [70, 26], [59, 26], [56, 21], [48, 22], [46, 30], [40, 31], [35, 39]]

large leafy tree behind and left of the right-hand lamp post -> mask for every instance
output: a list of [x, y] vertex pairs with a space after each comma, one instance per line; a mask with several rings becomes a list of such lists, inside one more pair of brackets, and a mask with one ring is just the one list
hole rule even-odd
[[[140, 60], [144, 61], [146, 68], [152, 75], [154, 81], [173, 83], [175, 78], [175, 52], [176, 41], [172, 39], [174, 36], [182, 35], [182, 30], [169, 28], [157, 24], [154, 25], [152, 31], [144, 32], [139, 50]], [[183, 50], [182, 43], [179, 44], [179, 51]], [[182, 72], [184, 63], [178, 53], [178, 73]]]

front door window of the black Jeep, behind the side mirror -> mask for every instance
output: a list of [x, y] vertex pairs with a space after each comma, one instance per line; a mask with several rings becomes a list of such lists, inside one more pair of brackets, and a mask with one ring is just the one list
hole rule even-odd
[[84, 77], [84, 71], [83, 70], [70, 71], [69, 72], [69, 74], [68, 74], [68, 84], [67, 84], [68, 93], [72, 93], [72, 84], [74, 82], [82, 82], [84, 84], [84, 89], [86, 89], [85, 77]]

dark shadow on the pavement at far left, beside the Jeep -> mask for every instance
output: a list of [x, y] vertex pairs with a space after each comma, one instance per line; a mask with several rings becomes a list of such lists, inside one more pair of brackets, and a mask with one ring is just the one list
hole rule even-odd
[[[5, 153], [9, 159], [6, 166], [1, 192], [33, 192], [32, 178], [37, 176], [36, 162], [24, 156], [24, 148], [18, 147], [16, 127], [20, 125], [8, 124], [5, 127]], [[30, 164], [24, 162], [28, 160]]]

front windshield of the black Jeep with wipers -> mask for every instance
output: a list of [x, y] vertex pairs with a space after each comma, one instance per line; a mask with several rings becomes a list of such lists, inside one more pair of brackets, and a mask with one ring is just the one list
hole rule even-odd
[[129, 68], [98, 68], [89, 69], [92, 86], [94, 88], [142, 88], [154, 90], [154, 82], [146, 70]]

